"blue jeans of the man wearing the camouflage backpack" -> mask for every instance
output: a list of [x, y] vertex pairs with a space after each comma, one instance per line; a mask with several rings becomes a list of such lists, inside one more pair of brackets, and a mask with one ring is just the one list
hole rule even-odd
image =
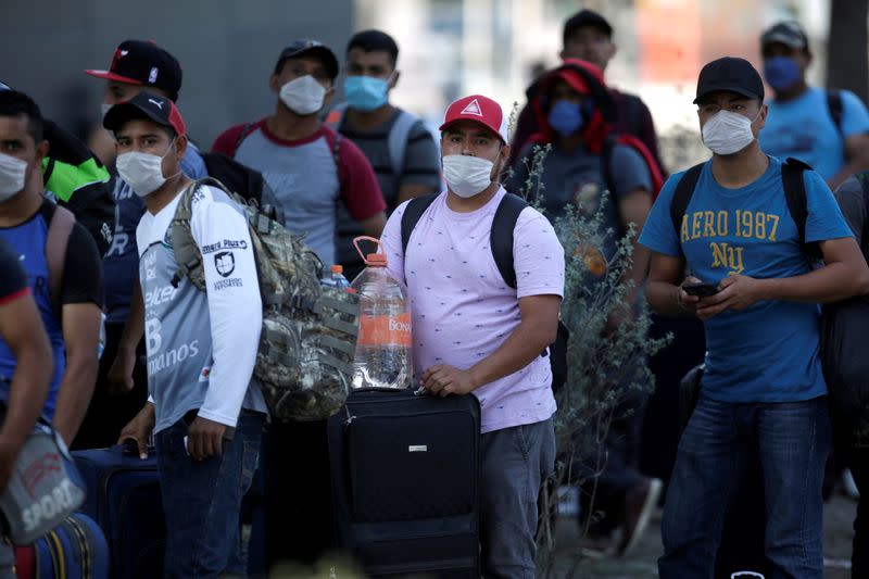
[[223, 455], [202, 462], [187, 454], [185, 419], [156, 435], [167, 579], [245, 575], [239, 515], [256, 470], [264, 424], [264, 414], [242, 411], [232, 440], [224, 439]]

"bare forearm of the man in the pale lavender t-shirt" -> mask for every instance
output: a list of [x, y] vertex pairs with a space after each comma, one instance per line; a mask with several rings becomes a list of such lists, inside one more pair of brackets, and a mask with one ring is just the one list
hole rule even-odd
[[540, 322], [522, 322], [491, 355], [468, 370], [475, 388], [509, 376], [528, 366], [543, 350], [555, 341], [557, 323], [550, 327]]

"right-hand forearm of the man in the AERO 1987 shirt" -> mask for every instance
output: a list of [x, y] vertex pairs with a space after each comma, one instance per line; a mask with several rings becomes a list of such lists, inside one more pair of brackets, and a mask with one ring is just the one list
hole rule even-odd
[[830, 303], [865, 292], [865, 276], [855, 276], [845, 263], [829, 264], [802, 276], [760, 281], [765, 300]]

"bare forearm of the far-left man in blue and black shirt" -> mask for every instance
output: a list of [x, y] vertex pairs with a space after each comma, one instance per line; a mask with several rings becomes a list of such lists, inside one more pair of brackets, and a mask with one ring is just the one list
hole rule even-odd
[[97, 382], [98, 367], [96, 355], [71, 356], [67, 360], [53, 420], [54, 428], [67, 444], [73, 442], [85, 419]]

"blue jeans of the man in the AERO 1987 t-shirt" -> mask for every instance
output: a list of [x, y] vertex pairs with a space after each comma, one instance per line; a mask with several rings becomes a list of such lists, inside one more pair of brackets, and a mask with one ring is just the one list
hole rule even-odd
[[823, 577], [821, 483], [830, 445], [827, 397], [779, 404], [701, 397], [667, 491], [660, 577], [713, 576], [725, 512], [751, 461], [763, 474], [767, 579]]

